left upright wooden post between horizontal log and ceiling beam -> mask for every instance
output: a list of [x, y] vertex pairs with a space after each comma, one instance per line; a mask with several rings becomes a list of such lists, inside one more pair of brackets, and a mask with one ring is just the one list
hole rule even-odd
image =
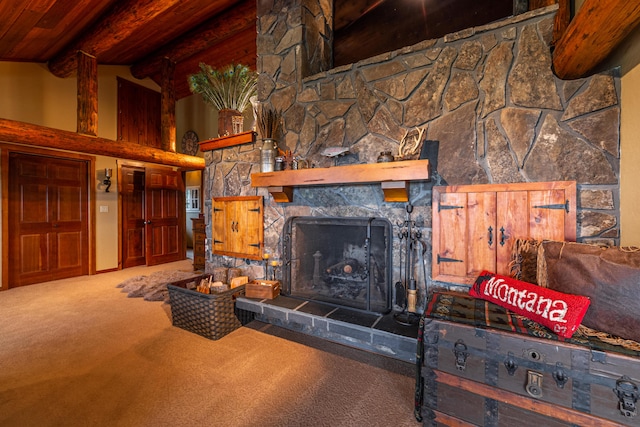
[[78, 133], [98, 135], [98, 61], [78, 51]]

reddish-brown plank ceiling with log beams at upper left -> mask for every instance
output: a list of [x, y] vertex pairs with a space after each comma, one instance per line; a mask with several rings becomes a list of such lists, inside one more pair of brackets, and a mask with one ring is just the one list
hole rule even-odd
[[76, 52], [100, 65], [127, 65], [136, 78], [161, 81], [162, 58], [176, 63], [178, 99], [188, 74], [256, 64], [256, 0], [3, 0], [0, 61], [48, 63], [75, 73]]

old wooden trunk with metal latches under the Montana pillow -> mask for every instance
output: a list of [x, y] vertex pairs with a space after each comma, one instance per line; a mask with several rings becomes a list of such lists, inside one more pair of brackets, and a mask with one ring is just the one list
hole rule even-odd
[[[575, 343], [575, 336], [563, 342], [423, 321], [424, 395], [417, 416], [425, 426], [640, 426], [635, 352], [597, 350], [592, 341]], [[540, 336], [549, 336], [540, 328]]]

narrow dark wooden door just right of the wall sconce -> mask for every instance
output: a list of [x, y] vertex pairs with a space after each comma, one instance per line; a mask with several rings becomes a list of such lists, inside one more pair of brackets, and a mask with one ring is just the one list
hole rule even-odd
[[145, 265], [144, 168], [120, 169], [122, 195], [122, 267]]

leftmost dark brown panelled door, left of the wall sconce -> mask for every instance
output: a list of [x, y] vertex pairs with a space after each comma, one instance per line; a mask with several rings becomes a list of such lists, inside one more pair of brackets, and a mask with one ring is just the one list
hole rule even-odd
[[9, 288], [89, 274], [88, 169], [10, 153]]

